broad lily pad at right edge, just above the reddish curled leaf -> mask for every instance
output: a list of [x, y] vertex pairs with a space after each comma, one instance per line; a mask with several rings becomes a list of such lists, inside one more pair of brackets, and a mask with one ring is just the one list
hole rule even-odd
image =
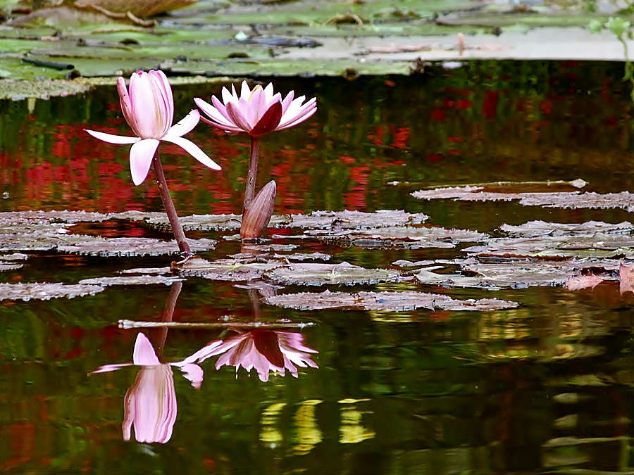
[[478, 256], [505, 258], [614, 258], [634, 255], [634, 239], [623, 234], [580, 234], [490, 239], [463, 249]]

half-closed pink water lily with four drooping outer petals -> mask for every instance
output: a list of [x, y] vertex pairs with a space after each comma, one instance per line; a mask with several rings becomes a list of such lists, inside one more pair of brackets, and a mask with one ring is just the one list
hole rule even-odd
[[130, 170], [132, 182], [139, 185], [147, 177], [147, 172], [161, 140], [181, 146], [192, 157], [212, 170], [220, 166], [201, 149], [182, 136], [190, 132], [200, 120], [198, 110], [192, 110], [183, 120], [172, 125], [174, 120], [174, 98], [172, 88], [163, 71], [137, 71], [130, 77], [130, 94], [125, 80], [119, 77], [117, 90], [123, 117], [136, 137], [104, 134], [87, 130], [92, 137], [110, 144], [133, 144], [130, 149]]

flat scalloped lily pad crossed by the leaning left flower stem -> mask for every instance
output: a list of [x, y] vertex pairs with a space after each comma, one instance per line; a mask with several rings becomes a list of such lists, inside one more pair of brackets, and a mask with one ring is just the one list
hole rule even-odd
[[[80, 236], [86, 238], [87, 236]], [[213, 239], [187, 239], [193, 252], [209, 251], [215, 248]], [[150, 238], [94, 238], [85, 239], [72, 245], [57, 246], [58, 251], [70, 254], [113, 256], [138, 256], [178, 254], [176, 241], [159, 241]]]

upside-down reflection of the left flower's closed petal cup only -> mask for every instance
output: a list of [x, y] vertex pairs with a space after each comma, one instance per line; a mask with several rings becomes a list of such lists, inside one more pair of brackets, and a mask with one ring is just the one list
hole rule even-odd
[[135, 384], [125, 393], [123, 440], [135, 425], [138, 442], [166, 443], [176, 422], [174, 373], [169, 365], [142, 367]]

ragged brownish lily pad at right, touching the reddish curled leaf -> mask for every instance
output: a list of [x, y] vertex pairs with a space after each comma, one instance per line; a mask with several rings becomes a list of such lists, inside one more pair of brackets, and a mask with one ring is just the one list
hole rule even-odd
[[[514, 260], [513, 262], [468, 262], [461, 265], [465, 274], [439, 274], [421, 270], [416, 279], [422, 284], [475, 289], [522, 289], [528, 286], [563, 286], [568, 279], [584, 273], [602, 274], [603, 280], [616, 280], [618, 260], [572, 259], [563, 262]], [[477, 275], [473, 275], [477, 274]]]

